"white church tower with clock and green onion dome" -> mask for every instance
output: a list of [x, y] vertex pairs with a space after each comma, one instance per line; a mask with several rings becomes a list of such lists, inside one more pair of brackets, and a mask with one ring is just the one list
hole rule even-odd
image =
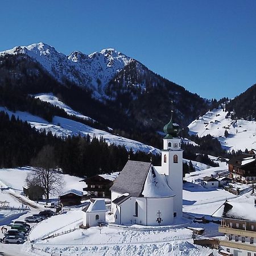
[[162, 173], [168, 175], [168, 184], [175, 192], [174, 217], [182, 217], [183, 192], [183, 150], [181, 139], [177, 136], [180, 126], [172, 121], [164, 126], [166, 137], [163, 139]]

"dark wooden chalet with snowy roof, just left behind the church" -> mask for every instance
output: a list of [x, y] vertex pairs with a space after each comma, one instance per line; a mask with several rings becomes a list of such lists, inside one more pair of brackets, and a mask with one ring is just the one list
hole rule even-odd
[[112, 174], [100, 174], [81, 180], [87, 185], [83, 190], [87, 192], [88, 197], [110, 198], [109, 188], [112, 187], [118, 174], [119, 172], [113, 172]]

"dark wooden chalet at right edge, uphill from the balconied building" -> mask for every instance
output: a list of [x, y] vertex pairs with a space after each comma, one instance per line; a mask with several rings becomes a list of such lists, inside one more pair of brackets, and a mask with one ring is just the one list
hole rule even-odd
[[232, 177], [233, 179], [241, 183], [256, 182], [255, 154], [239, 155], [234, 159], [230, 159], [228, 164], [230, 177]]

